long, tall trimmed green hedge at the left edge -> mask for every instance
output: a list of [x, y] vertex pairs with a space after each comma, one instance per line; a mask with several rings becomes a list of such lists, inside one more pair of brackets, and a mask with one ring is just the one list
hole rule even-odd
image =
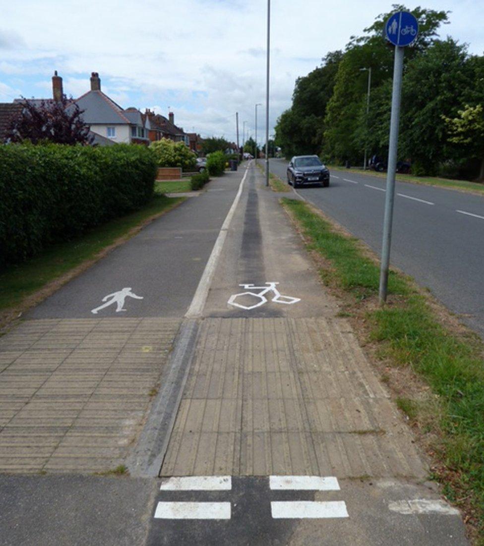
[[0, 267], [138, 209], [156, 170], [145, 146], [0, 145]]

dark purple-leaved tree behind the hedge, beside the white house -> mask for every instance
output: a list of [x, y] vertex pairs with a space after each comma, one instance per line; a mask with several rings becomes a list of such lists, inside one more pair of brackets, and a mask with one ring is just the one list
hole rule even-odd
[[45, 101], [39, 105], [22, 99], [22, 112], [14, 119], [7, 132], [12, 142], [30, 140], [37, 144], [50, 140], [58, 144], [91, 144], [89, 127], [82, 120], [79, 106], [64, 96], [60, 100]]

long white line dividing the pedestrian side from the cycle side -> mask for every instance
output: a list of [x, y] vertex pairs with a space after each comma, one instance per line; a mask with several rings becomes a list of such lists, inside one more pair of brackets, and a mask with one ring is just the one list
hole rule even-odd
[[190, 304], [187, 314], [185, 315], [187, 318], [199, 317], [202, 311], [204, 310], [205, 301], [207, 300], [207, 296], [208, 296], [208, 290], [210, 289], [213, 275], [215, 274], [215, 270], [217, 268], [217, 262], [220, 257], [220, 254], [222, 253], [222, 248], [224, 246], [225, 238], [227, 236], [227, 231], [229, 229], [229, 225], [232, 220], [232, 217], [234, 216], [235, 209], [237, 208], [238, 201], [240, 200], [240, 196], [242, 194], [242, 188], [243, 188], [244, 182], [246, 181], [248, 172], [249, 172], [249, 168], [246, 169], [246, 173], [244, 174], [242, 181], [240, 185], [238, 186], [238, 192], [237, 192], [237, 195], [235, 196], [234, 203], [232, 203], [229, 213], [226, 216], [224, 223], [222, 224], [222, 228], [220, 229], [220, 233], [218, 234], [217, 240], [215, 241], [215, 244], [213, 245], [212, 253], [210, 254], [210, 258], [208, 258], [207, 265], [205, 266], [204, 273], [200, 279], [195, 295], [193, 296], [192, 303]]

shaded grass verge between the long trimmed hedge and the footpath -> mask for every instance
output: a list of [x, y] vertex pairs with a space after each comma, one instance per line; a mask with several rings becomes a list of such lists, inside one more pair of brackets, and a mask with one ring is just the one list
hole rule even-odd
[[78, 239], [52, 245], [28, 262], [12, 265], [0, 272], [0, 327], [45, 299], [183, 200], [156, 193], [142, 209], [100, 225]]

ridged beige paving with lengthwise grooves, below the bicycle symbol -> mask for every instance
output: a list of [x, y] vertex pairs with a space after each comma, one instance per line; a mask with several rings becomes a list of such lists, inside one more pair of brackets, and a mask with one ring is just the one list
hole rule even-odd
[[206, 318], [161, 474], [426, 469], [347, 321]]

